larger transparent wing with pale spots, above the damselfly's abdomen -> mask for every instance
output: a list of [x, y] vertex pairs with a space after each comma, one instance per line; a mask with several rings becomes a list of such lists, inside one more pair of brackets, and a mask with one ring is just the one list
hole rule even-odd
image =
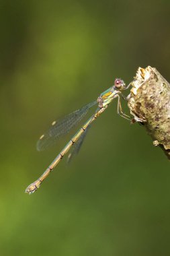
[[85, 117], [87, 112], [89, 111], [89, 108], [94, 106], [97, 103], [91, 102], [87, 104], [86, 106], [83, 106], [83, 108], [80, 108], [79, 110], [76, 110], [75, 112], [67, 115], [61, 120], [58, 120], [58, 122], [54, 121], [52, 122], [52, 126], [46, 133], [44, 133], [40, 139], [37, 142], [37, 150], [46, 150], [50, 146], [54, 145], [56, 141], [62, 136], [69, 133], [69, 131]]

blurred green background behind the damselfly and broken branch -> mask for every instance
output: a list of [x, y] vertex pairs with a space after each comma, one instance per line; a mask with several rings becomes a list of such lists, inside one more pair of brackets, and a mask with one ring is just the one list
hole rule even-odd
[[2, 256], [170, 255], [169, 161], [143, 127], [118, 117], [117, 100], [71, 165], [63, 160], [34, 195], [24, 193], [71, 137], [36, 152], [53, 120], [95, 100], [115, 77], [128, 84], [138, 66], [170, 81], [169, 8], [0, 1]]

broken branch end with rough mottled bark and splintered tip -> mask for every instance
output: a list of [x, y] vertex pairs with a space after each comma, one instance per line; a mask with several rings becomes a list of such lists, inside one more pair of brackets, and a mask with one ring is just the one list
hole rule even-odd
[[154, 67], [138, 68], [128, 96], [128, 107], [170, 159], [170, 84]]

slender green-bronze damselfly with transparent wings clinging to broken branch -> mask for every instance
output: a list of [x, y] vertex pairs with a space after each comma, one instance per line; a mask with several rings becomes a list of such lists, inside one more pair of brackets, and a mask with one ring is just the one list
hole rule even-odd
[[[130, 86], [130, 85], [129, 85]], [[61, 136], [67, 134], [85, 115], [87, 114], [89, 108], [94, 106], [95, 104], [98, 104], [97, 110], [95, 110], [95, 113], [87, 120], [87, 122], [79, 129], [79, 131], [71, 138], [69, 143], [61, 150], [61, 152], [56, 156], [54, 161], [48, 166], [48, 168], [45, 170], [45, 172], [38, 178], [37, 181], [34, 181], [34, 183], [30, 184], [27, 189], [26, 193], [31, 194], [36, 191], [42, 181], [48, 177], [48, 174], [54, 169], [54, 167], [60, 162], [60, 160], [67, 154], [67, 152], [73, 148], [73, 151], [69, 154], [68, 159], [71, 160], [71, 158], [79, 152], [79, 149], [81, 147], [81, 144], [83, 143], [83, 140], [85, 138], [85, 135], [87, 134], [87, 131], [89, 127], [91, 126], [91, 123], [105, 111], [106, 108], [108, 108], [108, 105], [114, 100], [114, 98], [118, 98], [118, 108], [117, 112], [119, 115], [124, 117], [125, 119], [130, 120], [130, 117], [128, 115], [124, 114], [122, 111], [122, 106], [120, 103], [120, 96], [122, 98], [126, 99], [126, 97], [122, 94], [122, 90], [126, 90], [129, 86], [125, 86], [124, 81], [120, 78], [115, 79], [114, 86], [100, 94], [100, 96], [95, 100], [94, 102], [91, 102], [90, 104], [87, 104], [86, 106], [83, 106], [83, 108], [80, 108], [79, 110], [76, 110], [75, 112], [67, 115], [64, 119], [61, 121], [54, 121], [52, 123], [52, 127], [44, 133], [40, 137], [37, 143], [37, 149], [38, 150], [45, 150], [46, 148], [50, 147], [52, 144], [56, 142], [56, 140]]]

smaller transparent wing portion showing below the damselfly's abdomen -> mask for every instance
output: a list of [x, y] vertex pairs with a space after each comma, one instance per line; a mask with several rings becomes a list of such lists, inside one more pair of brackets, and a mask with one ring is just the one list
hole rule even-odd
[[73, 157], [79, 153], [79, 150], [81, 149], [81, 146], [82, 146], [82, 144], [83, 144], [83, 141], [84, 141], [84, 139], [85, 139], [85, 136], [87, 135], [87, 131], [89, 131], [89, 128], [90, 128], [90, 127], [91, 127], [91, 125], [89, 125], [89, 126], [85, 129], [84, 133], [81, 134], [81, 136], [79, 137], [79, 140], [73, 145], [72, 151], [71, 151], [71, 153], [69, 154], [69, 156], [68, 156], [68, 158], [67, 158], [67, 163], [68, 163], [68, 164], [72, 161]]

